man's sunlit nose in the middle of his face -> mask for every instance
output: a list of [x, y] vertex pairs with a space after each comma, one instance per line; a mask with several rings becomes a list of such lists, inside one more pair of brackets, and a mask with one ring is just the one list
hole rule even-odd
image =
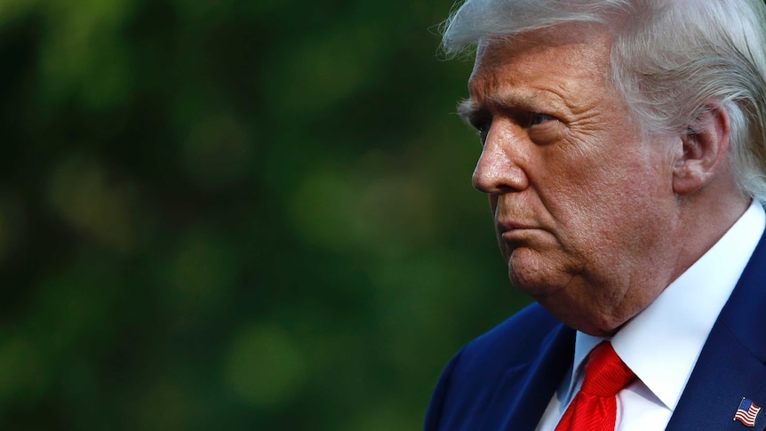
[[502, 194], [529, 186], [523, 170], [523, 140], [512, 131], [492, 124], [484, 141], [482, 155], [474, 170], [474, 187], [484, 193]]

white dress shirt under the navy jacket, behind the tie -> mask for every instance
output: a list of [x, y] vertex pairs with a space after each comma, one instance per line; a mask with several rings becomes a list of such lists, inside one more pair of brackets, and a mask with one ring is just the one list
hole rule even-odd
[[[619, 357], [638, 377], [617, 395], [616, 431], [665, 429], [764, 227], [766, 214], [754, 202], [710, 250], [611, 338]], [[564, 377], [538, 431], [555, 430], [582, 385], [586, 356], [603, 339], [577, 332], [571, 369], [575, 372]]]

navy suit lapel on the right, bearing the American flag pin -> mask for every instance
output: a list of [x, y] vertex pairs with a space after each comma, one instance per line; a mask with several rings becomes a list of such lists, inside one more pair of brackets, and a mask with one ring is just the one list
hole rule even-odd
[[[766, 429], [764, 274], [766, 240], [762, 237], [702, 348], [667, 430]], [[734, 420], [743, 397], [764, 407], [753, 428]]]

